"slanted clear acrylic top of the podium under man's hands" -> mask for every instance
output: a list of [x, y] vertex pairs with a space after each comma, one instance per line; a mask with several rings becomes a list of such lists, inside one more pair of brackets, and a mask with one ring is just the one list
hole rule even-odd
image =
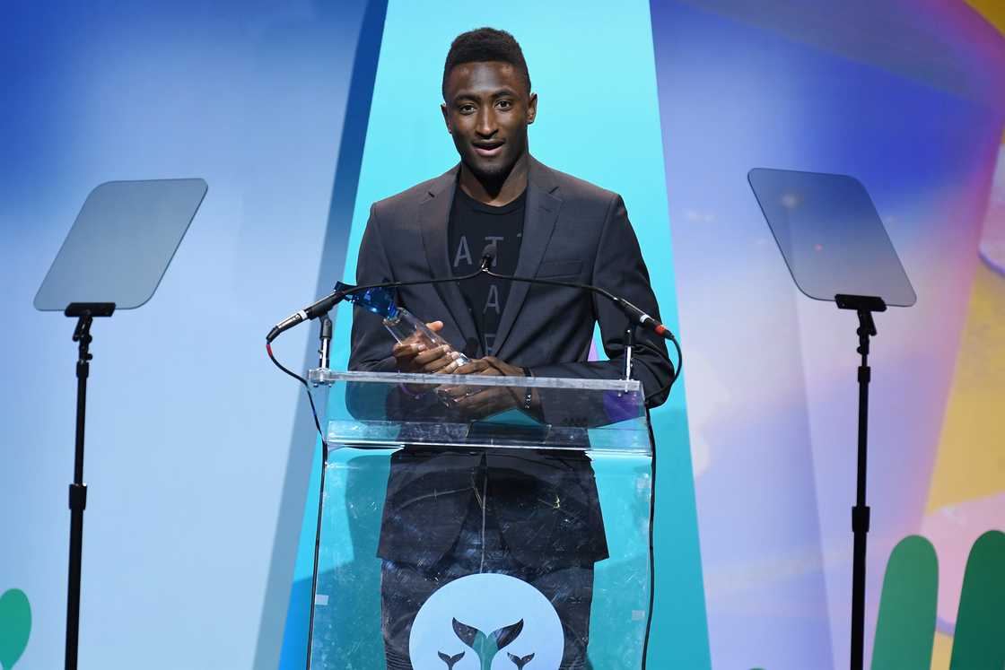
[[333, 447], [562, 449], [651, 454], [636, 380], [308, 373], [328, 390]]

